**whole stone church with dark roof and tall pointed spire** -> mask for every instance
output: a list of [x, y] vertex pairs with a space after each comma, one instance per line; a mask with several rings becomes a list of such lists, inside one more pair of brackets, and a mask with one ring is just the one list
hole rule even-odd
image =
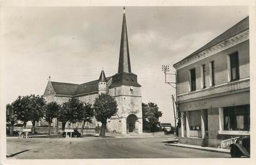
[[[107, 130], [121, 134], [142, 133], [141, 85], [137, 82], [137, 75], [131, 72], [125, 7], [118, 72], [106, 77], [104, 70], [101, 70], [99, 75], [98, 80], [82, 84], [53, 82], [49, 78], [43, 97], [48, 102], [56, 101], [59, 104], [63, 104], [69, 98], [78, 98], [93, 104], [101, 93], [108, 93], [118, 103], [118, 112], [107, 121]], [[61, 122], [57, 120], [54, 120], [53, 125], [61, 128]], [[101, 124], [94, 119], [93, 123], [87, 123], [88, 125], [95, 128]], [[81, 128], [81, 123], [73, 123], [71, 128]]]

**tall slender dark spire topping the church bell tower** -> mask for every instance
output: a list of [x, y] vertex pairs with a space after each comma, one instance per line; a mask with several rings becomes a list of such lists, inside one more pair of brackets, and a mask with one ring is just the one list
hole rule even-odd
[[131, 73], [130, 55], [128, 47], [128, 37], [126, 29], [126, 19], [125, 19], [125, 7], [123, 7], [123, 25], [121, 33], [121, 44], [120, 44], [120, 55], [119, 55], [119, 65], [118, 73]]

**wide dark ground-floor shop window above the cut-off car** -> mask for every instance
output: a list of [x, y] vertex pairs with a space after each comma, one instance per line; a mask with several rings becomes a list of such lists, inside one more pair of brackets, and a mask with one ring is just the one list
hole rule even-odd
[[223, 108], [224, 130], [250, 130], [250, 105]]

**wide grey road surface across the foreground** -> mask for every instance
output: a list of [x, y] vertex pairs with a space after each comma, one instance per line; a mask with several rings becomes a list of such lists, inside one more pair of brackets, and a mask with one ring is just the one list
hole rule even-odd
[[229, 154], [167, 146], [166, 138], [7, 139], [11, 159], [230, 158]]

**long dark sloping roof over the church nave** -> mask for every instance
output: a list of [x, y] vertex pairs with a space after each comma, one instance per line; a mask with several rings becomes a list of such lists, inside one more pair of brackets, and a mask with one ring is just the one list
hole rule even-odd
[[[107, 77], [106, 81], [108, 82], [110, 79], [111, 77]], [[74, 96], [98, 92], [98, 81], [99, 80], [93, 80], [82, 84], [51, 82], [51, 85], [53, 85], [53, 90], [56, 95]]]

